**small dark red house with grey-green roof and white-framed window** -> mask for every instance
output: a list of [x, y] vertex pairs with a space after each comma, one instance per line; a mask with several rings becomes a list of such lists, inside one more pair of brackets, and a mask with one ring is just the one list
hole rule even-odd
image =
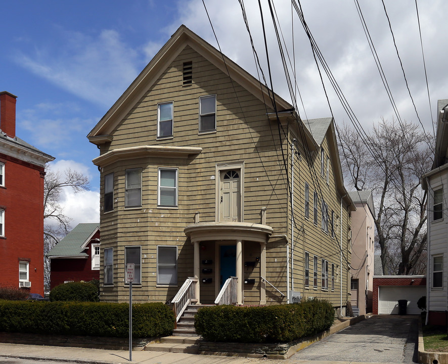
[[50, 288], [66, 282], [100, 280], [100, 223], [80, 223], [48, 254]]

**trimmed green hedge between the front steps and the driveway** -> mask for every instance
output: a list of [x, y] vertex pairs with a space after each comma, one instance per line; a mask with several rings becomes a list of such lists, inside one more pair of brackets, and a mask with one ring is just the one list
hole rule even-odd
[[289, 342], [325, 331], [333, 322], [333, 306], [312, 300], [264, 307], [204, 307], [196, 314], [195, 328], [208, 341]]

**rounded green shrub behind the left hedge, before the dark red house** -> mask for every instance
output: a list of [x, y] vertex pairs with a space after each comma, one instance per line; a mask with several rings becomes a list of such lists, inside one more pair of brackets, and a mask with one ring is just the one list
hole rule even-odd
[[98, 302], [97, 286], [87, 282], [69, 282], [53, 288], [50, 301]]

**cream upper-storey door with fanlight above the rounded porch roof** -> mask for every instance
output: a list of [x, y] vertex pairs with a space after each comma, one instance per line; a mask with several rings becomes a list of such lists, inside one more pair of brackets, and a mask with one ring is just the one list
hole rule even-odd
[[240, 170], [220, 172], [219, 221], [241, 221]]

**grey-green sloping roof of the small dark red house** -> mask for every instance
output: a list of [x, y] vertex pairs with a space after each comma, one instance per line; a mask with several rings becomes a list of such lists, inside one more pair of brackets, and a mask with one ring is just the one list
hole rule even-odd
[[80, 223], [73, 228], [49, 253], [51, 258], [87, 258], [85, 249], [100, 230], [99, 223]]

